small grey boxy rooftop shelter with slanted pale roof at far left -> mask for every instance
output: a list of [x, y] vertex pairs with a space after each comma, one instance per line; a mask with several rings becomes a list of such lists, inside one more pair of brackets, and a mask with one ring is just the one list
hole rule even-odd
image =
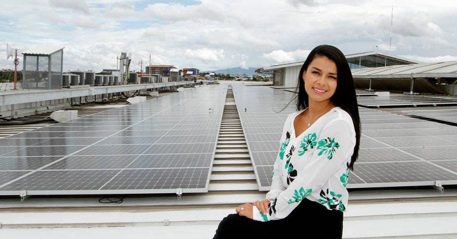
[[23, 51], [22, 88], [62, 88], [63, 49], [55, 46], [38, 46]]

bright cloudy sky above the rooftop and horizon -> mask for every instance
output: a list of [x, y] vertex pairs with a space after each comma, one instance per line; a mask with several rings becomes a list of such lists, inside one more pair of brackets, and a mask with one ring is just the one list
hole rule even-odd
[[[64, 71], [151, 64], [216, 70], [304, 61], [317, 45], [421, 62], [457, 61], [457, 1], [440, 0], [0, 0], [6, 43], [64, 47]], [[393, 17], [391, 25], [391, 14]], [[389, 46], [389, 39], [392, 43]], [[22, 55], [19, 55], [19, 69]]]

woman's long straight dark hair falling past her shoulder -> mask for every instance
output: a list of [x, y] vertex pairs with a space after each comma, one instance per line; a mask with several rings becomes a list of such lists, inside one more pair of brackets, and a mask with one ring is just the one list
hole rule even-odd
[[357, 106], [357, 98], [355, 96], [354, 80], [352, 79], [351, 69], [349, 68], [348, 61], [338, 48], [330, 45], [317, 46], [311, 51], [300, 69], [299, 79], [297, 83], [297, 110], [302, 110], [308, 105], [308, 94], [305, 91], [305, 83], [303, 81], [303, 72], [308, 69], [309, 64], [318, 56], [325, 56], [332, 60], [336, 65], [337, 70], [337, 84], [334, 95], [330, 100], [341, 107], [352, 118], [355, 130], [355, 146], [354, 153], [351, 157], [349, 168], [354, 169], [354, 162], [359, 155], [360, 146], [360, 117], [359, 109]]

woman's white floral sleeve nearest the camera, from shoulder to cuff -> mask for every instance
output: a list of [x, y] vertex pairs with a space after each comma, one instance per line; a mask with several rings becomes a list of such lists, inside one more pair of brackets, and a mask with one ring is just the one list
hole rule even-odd
[[337, 119], [328, 123], [320, 132], [317, 147], [311, 161], [292, 181], [269, 203], [267, 215], [258, 210], [254, 220], [267, 222], [285, 218], [302, 199], [322, 188], [333, 174], [346, 169], [355, 145], [355, 132], [352, 122]]

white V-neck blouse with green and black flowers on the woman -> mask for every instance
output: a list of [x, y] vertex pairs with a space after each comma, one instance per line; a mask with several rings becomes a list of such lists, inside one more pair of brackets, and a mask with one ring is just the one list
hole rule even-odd
[[253, 207], [256, 221], [285, 218], [304, 198], [329, 210], [346, 210], [346, 184], [355, 146], [351, 116], [334, 107], [296, 136], [294, 120], [301, 112], [290, 114], [284, 123], [271, 190], [266, 194], [266, 198], [273, 200], [266, 215]]

